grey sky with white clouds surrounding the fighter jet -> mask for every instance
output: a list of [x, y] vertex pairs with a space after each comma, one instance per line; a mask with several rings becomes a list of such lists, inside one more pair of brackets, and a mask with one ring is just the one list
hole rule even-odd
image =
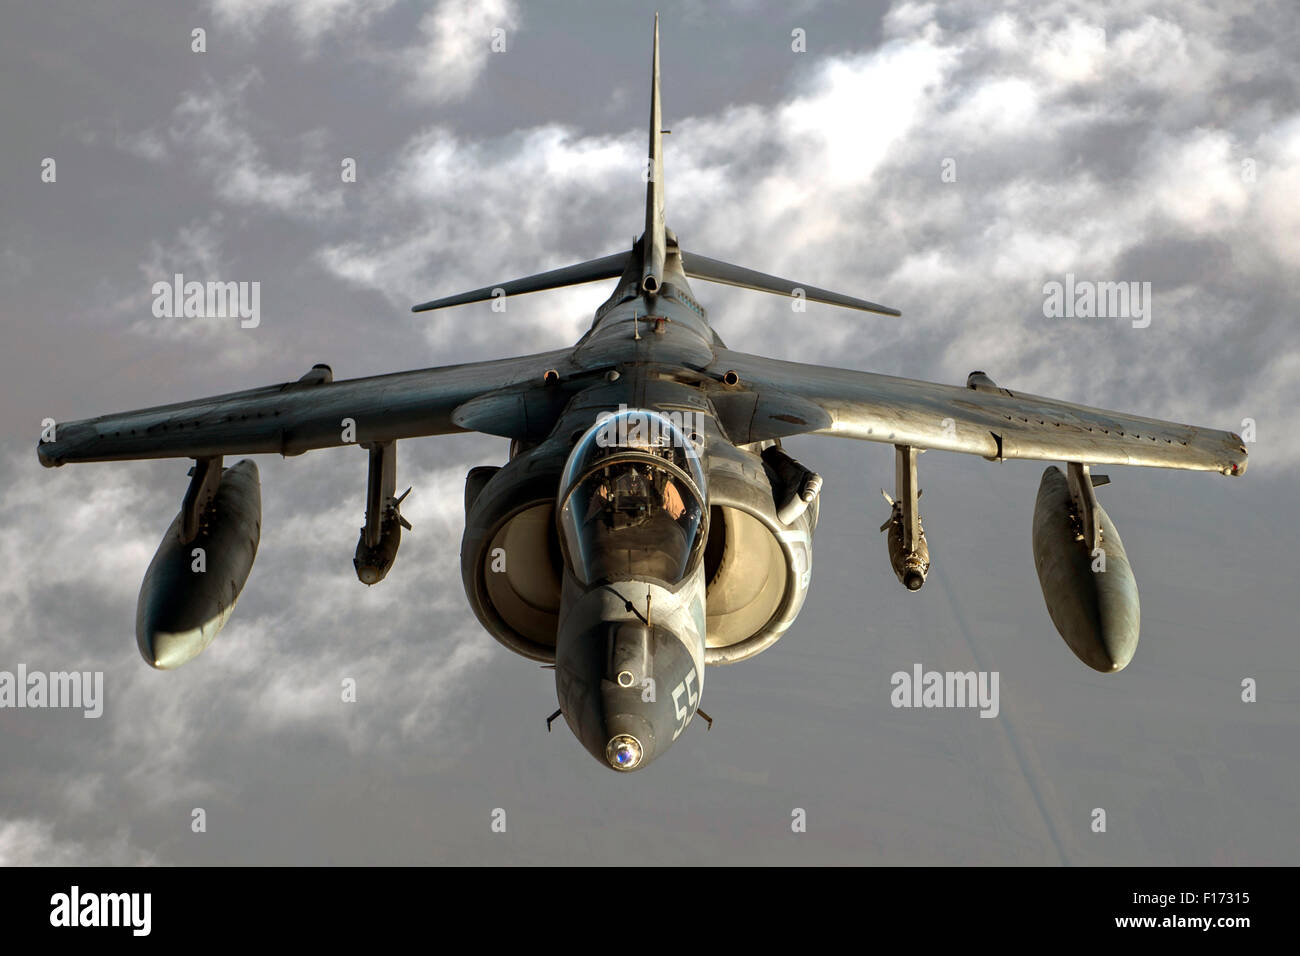
[[[365, 457], [259, 458], [238, 610], [151, 670], [135, 600], [188, 463], [46, 471], [40, 420], [572, 342], [606, 287], [407, 310], [630, 243], [654, 7], [10, 4], [0, 670], [103, 671], [107, 700], [0, 710], [0, 862], [1300, 862], [1294, 4], [658, 8], [682, 243], [904, 311], [792, 315], [697, 282], [728, 345], [1256, 423], [1240, 480], [1109, 470], [1143, 594], [1130, 667], [1089, 671], [1052, 627], [1041, 466], [926, 455], [935, 571], [910, 594], [876, 531], [890, 449], [803, 438], [826, 489], [801, 618], [710, 671], [711, 732], [618, 777], [546, 734], [551, 674], [468, 610], [462, 485], [506, 442], [458, 436], [402, 445], [415, 529], [373, 589], [351, 566]], [[261, 282], [260, 325], [155, 317], [176, 272]], [[1067, 273], [1150, 282], [1149, 328], [1044, 317]], [[1000, 715], [892, 708], [914, 663], [997, 671]]]

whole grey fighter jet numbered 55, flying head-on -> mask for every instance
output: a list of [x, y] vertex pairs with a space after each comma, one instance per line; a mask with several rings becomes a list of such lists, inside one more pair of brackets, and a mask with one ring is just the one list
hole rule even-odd
[[[153, 667], [196, 657], [226, 623], [261, 532], [257, 468], [229, 455], [299, 455], [355, 444], [369, 454], [358, 578], [396, 557], [396, 442], [481, 432], [508, 460], [469, 471], [462, 576], [502, 644], [554, 667], [559, 710], [618, 771], [663, 754], [699, 710], [705, 670], [745, 661], [793, 624], [807, 594], [822, 479], [781, 440], [798, 434], [894, 446], [885, 496], [890, 564], [916, 591], [930, 571], [916, 455], [1061, 462], [1043, 475], [1034, 559], [1049, 615], [1098, 671], [1123, 669], [1139, 631], [1138, 589], [1089, 468], [1134, 464], [1242, 475], [1232, 433], [1101, 411], [1001, 388], [822, 368], [732, 351], [689, 280], [897, 316], [864, 299], [690, 252], [664, 225], [655, 18], [645, 232], [629, 250], [469, 293], [422, 312], [618, 280], [576, 345], [536, 355], [334, 381], [296, 381], [82, 421], [42, 436], [40, 462], [190, 458], [188, 489], [146, 572], [136, 641]], [[710, 721], [711, 723], [711, 721]]]

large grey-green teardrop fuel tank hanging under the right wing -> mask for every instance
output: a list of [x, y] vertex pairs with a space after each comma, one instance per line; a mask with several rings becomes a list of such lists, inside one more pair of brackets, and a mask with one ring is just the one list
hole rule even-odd
[[[1093, 670], [1113, 674], [1138, 649], [1138, 583], [1119, 532], [1091, 493], [1093, 479], [1086, 470], [1079, 472], [1082, 494], [1091, 498], [1086, 507], [1092, 510], [1092, 527], [1080, 515], [1066, 476], [1049, 467], [1034, 506], [1034, 566], [1052, 623], [1070, 650]], [[1089, 533], [1096, 535], [1091, 541]]]

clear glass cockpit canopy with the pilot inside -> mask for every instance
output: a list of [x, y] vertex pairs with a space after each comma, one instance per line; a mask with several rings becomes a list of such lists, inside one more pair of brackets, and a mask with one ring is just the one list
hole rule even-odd
[[559, 525], [577, 579], [628, 578], [675, 585], [706, 535], [705, 475], [690, 438], [667, 416], [624, 408], [598, 421], [569, 453]]

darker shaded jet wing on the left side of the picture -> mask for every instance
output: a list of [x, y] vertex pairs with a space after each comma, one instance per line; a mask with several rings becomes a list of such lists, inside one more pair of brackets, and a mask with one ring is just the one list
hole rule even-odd
[[[569, 369], [568, 349], [367, 378], [332, 381], [312, 369], [299, 381], [176, 405], [56, 423], [38, 446], [47, 467], [68, 462], [214, 455], [298, 455], [344, 445], [344, 419], [358, 444], [463, 432], [458, 406], [488, 392], [538, 385], [549, 369]], [[313, 375], [315, 373], [315, 375]]]

